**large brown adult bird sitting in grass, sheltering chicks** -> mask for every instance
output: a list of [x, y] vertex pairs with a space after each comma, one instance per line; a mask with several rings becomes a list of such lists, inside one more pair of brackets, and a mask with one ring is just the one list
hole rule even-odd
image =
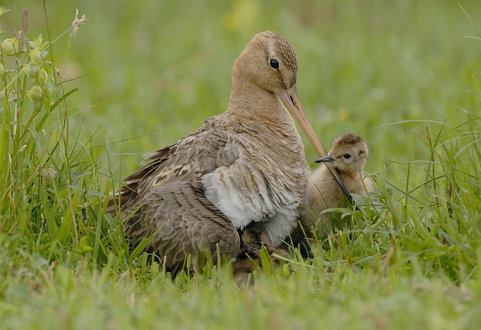
[[109, 212], [120, 205], [131, 245], [158, 231], [148, 250], [175, 273], [188, 254], [194, 267], [202, 252], [215, 256], [216, 244], [235, 258], [251, 223], [267, 245], [282, 243], [297, 225], [310, 173], [289, 115], [313, 135], [295, 87], [297, 70], [293, 47], [276, 32], [247, 43], [232, 68], [227, 110], [151, 153], [111, 201]]

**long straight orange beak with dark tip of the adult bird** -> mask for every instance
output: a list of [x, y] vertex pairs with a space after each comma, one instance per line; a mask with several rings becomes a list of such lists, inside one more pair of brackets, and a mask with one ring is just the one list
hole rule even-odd
[[[287, 91], [284, 91], [284, 93], [280, 94], [279, 97], [282, 102], [284, 102], [284, 105], [287, 107], [293, 118], [298, 122], [302, 131], [304, 131], [304, 134], [306, 134], [306, 137], [315, 148], [315, 151], [317, 151], [321, 157], [326, 157], [326, 149], [324, 146], [322, 146], [319, 137], [315, 134], [313, 126], [311, 125], [311, 122], [309, 122], [309, 119], [304, 112], [304, 107], [302, 107], [302, 103], [300, 102], [298, 89], [295, 84], [291, 88], [287, 89]], [[333, 175], [334, 179], [337, 181], [337, 184], [339, 184], [339, 187], [341, 187], [344, 195], [346, 195], [348, 200], [352, 203], [353, 197], [350, 195], [349, 188], [344, 183], [341, 175], [339, 175], [337, 170], [334, 168], [328, 167], [328, 170], [331, 171], [331, 175]]]

